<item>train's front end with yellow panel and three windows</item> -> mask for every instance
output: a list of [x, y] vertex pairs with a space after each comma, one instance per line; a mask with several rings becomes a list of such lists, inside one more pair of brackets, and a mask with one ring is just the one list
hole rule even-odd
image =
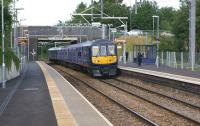
[[112, 42], [91, 47], [93, 76], [114, 76], [117, 74], [117, 47]]

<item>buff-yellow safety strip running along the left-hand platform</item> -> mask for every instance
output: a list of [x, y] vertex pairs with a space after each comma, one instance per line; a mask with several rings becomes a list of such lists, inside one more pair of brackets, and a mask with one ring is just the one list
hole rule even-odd
[[76, 126], [76, 121], [70, 113], [63, 96], [55, 84], [55, 81], [45, 68], [45, 64], [41, 62], [37, 62], [37, 64], [40, 66], [42, 72], [44, 73], [58, 126]]

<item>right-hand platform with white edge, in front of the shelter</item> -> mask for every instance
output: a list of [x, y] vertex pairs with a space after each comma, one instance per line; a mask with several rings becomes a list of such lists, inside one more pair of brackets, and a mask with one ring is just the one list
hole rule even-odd
[[175, 69], [167, 66], [160, 66], [159, 68], [157, 68], [155, 65], [138, 66], [135, 63], [119, 64], [118, 68], [133, 73], [140, 73], [200, 86], [200, 72]]

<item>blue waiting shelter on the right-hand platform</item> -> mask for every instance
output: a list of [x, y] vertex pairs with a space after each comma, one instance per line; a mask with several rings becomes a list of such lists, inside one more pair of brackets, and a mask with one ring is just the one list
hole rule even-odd
[[138, 53], [141, 53], [143, 64], [155, 64], [157, 47], [156, 45], [134, 45], [133, 46], [133, 61], [138, 62]]

